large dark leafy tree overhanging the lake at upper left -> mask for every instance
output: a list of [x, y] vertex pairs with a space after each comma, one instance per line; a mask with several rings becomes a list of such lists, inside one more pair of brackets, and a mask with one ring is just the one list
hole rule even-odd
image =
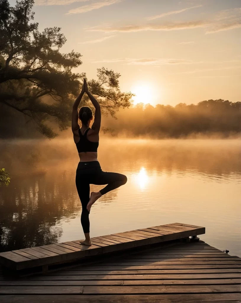
[[[73, 100], [81, 90], [85, 73], [74, 73], [82, 64], [81, 54], [60, 52], [66, 42], [61, 28], [38, 31], [32, 8], [34, 0], [0, 0], [0, 102], [23, 113], [48, 138], [57, 133], [48, 123], [56, 120], [60, 130], [69, 127]], [[97, 69], [97, 80], [88, 81], [90, 92], [102, 112], [115, 117], [119, 108], [130, 106], [133, 96], [121, 92], [119, 73]], [[83, 104], [88, 100], [83, 98]]]

